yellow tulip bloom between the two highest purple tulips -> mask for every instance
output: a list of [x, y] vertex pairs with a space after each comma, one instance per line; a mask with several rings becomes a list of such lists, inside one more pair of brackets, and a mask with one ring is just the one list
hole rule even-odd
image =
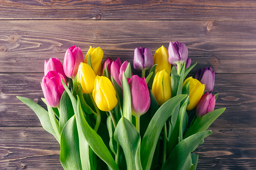
[[172, 65], [169, 63], [168, 57], [168, 51], [163, 46], [155, 51], [155, 55], [153, 57], [154, 64], [157, 64], [155, 72], [165, 70], [165, 72], [170, 75]]

